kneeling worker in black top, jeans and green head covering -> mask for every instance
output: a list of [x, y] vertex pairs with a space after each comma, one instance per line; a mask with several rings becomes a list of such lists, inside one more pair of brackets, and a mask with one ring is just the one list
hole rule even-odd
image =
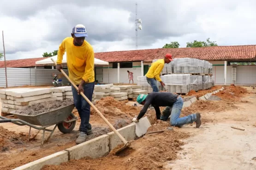
[[[180, 117], [180, 112], [183, 106], [183, 99], [179, 95], [173, 93], [162, 93], [162, 92], [153, 92], [150, 94], [140, 94], [137, 97], [137, 102], [141, 105], [144, 105], [139, 115], [132, 119], [132, 122], [138, 122], [140, 118], [144, 116], [146, 111], [151, 104], [155, 108], [156, 119], [161, 119], [167, 121], [170, 117], [171, 126], [182, 126], [184, 124], [196, 122], [196, 128], [199, 128], [201, 125], [201, 115], [200, 113], [191, 114], [186, 117]], [[167, 106], [167, 109], [164, 114], [161, 116], [160, 106]], [[169, 112], [167, 112], [169, 108]], [[172, 108], [172, 109], [170, 109]]]

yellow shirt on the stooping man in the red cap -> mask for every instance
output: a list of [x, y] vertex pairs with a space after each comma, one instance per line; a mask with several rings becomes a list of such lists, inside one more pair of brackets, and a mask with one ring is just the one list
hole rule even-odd
[[148, 78], [155, 78], [158, 82], [161, 82], [160, 73], [164, 68], [164, 59], [159, 59], [151, 64], [149, 71], [145, 75]]

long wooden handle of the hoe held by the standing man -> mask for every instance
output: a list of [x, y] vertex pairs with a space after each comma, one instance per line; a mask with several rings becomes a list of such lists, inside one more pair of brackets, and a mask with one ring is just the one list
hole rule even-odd
[[[51, 60], [54, 62], [55, 65], [57, 65], [57, 63], [54, 61], [53, 58], [51, 58]], [[70, 78], [66, 75], [66, 73], [61, 69], [60, 72], [68, 79], [68, 81], [78, 90], [77, 85], [72, 82], [70, 80]], [[118, 135], [118, 137], [126, 144], [128, 143], [125, 138], [113, 127], [113, 125], [111, 123], [108, 122], [108, 120], [102, 115], [102, 113], [92, 104], [92, 102], [81, 92], [80, 93], [83, 98], [89, 103], [90, 106], [92, 106], [92, 108], [100, 115], [100, 117], [104, 120], [104, 122], [107, 123], [107, 125], [110, 127], [110, 129], [113, 130], [113, 132]]]

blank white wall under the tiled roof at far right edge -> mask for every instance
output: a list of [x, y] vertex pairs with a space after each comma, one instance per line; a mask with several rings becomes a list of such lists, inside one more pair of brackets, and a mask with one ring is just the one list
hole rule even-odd
[[256, 65], [237, 66], [236, 84], [256, 84]]

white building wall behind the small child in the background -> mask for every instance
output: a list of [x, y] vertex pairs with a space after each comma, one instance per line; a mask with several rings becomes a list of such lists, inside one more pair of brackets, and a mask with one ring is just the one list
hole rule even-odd
[[[104, 83], [118, 83], [117, 78], [117, 69], [112, 68], [112, 63], [109, 64], [109, 82], [108, 82], [108, 68], [103, 67], [103, 82]], [[120, 83], [129, 83], [128, 72], [127, 70], [133, 72], [133, 82], [137, 83], [137, 76], [141, 76], [141, 62], [133, 62], [133, 68], [121, 68], [119, 82]], [[128, 79], [128, 80], [127, 80]], [[132, 82], [131, 82], [132, 83]]]

